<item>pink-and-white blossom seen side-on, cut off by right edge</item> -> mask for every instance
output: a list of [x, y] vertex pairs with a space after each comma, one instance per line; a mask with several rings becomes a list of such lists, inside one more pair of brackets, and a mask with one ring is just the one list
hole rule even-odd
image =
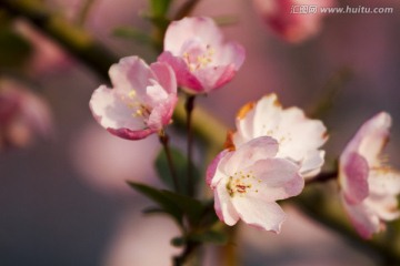
[[384, 229], [384, 221], [400, 216], [396, 196], [400, 173], [383, 163], [391, 117], [381, 112], [367, 121], [340, 156], [341, 198], [358, 233], [369, 238]]

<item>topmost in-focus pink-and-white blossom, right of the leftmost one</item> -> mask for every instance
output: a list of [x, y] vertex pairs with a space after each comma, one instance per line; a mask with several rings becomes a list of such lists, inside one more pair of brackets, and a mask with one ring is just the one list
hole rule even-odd
[[169, 63], [178, 84], [191, 93], [208, 93], [229, 82], [244, 61], [244, 50], [223, 42], [210, 18], [184, 18], [167, 29], [164, 52], [158, 58]]

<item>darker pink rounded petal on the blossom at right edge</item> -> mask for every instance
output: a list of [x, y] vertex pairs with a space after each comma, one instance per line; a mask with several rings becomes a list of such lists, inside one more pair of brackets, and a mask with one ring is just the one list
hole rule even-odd
[[349, 204], [362, 202], [369, 194], [368, 162], [357, 153], [340, 160], [340, 184]]

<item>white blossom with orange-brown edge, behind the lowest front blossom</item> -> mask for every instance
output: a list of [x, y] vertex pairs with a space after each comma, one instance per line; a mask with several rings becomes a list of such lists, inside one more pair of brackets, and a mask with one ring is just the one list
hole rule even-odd
[[317, 175], [323, 165], [327, 129], [319, 120], [308, 119], [298, 108], [282, 109], [276, 94], [248, 103], [238, 113], [232, 144], [240, 146], [259, 136], [271, 136], [279, 143], [277, 157], [300, 165], [303, 177]]

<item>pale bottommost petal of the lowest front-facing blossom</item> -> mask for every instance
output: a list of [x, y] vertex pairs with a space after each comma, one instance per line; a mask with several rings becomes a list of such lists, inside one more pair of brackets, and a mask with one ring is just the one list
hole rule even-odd
[[284, 212], [274, 202], [237, 196], [232, 204], [244, 223], [264, 231], [279, 233], [286, 219]]

